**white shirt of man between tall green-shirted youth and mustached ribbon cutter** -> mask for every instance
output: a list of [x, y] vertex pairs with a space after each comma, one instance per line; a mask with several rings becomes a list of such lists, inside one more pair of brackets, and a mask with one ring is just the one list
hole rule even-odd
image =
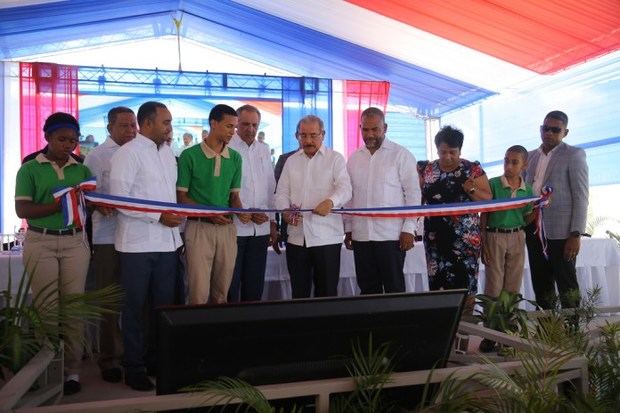
[[[243, 139], [235, 134], [228, 147], [241, 155], [241, 205], [244, 208], [273, 209], [276, 179], [273, 175], [269, 145], [255, 140], [248, 146]], [[274, 213], [267, 215], [270, 220], [275, 219]], [[269, 221], [261, 225], [251, 221], [244, 224], [239, 221], [236, 215], [233, 220], [237, 227], [238, 237], [269, 235], [271, 232]]]

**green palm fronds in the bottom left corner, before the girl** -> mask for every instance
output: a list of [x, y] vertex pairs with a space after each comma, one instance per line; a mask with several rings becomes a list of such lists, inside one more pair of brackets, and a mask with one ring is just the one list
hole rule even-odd
[[[11, 274], [6, 290], [0, 291], [0, 378], [5, 371], [16, 373], [43, 346], [57, 350], [68, 336], [79, 337], [82, 323], [93, 323], [105, 313], [115, 312], [122, 291], [109, 286], [79, 294], [57, 294], [56, 281], [45, 285], [36, 295], [30, 294], [31, 277], [24, 272], [13, 294]], [[87, 346], [88, 348], [88, 346]]]

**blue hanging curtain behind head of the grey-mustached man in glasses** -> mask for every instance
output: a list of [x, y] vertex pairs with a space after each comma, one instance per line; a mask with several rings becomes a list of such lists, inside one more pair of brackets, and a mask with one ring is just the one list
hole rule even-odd
[[325, 124], [323, 144], [332, 147], [332, 81], [314, 77], [282, 78], [282, 153], [299, 147], [295, 132], [297, 122], [306, 115], [316, 115]]

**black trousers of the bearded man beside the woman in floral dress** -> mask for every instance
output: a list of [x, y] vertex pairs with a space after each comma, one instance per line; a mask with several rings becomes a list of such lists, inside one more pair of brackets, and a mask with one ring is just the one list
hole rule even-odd
[[404, 292], [405, 255], [399, 241], [353, 241], [355, 274], [361, 293]]

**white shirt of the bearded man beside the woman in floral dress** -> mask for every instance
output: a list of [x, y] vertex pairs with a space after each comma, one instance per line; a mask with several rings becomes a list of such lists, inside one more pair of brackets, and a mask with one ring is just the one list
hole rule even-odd
[[[347, 207], [420, 205], [415, 157], [395, 142], [385, 139], [372, 155], [362, 146], [349, 158], [347, 170], [353, 185]], [[346, 216], [344, 227], [355, 241], [396, 241], [401, 232], [415, 232], [417, 219]]]

